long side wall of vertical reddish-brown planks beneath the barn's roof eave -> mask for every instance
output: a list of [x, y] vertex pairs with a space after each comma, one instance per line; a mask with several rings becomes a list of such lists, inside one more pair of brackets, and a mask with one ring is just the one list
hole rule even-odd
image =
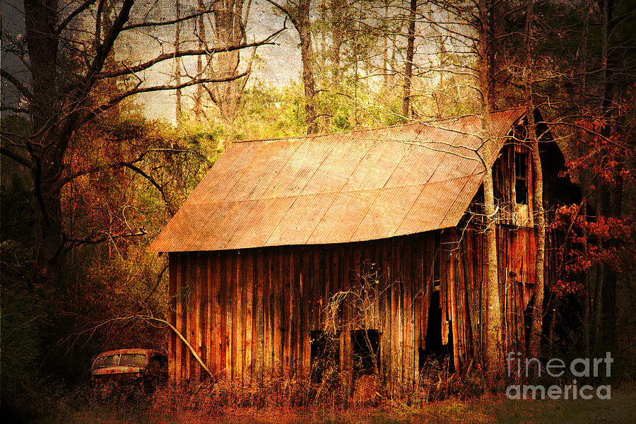
[[[424, 348], [435, 232], [371, 242], [170, 254], [170, 320], [215, 378], [238, 384], [310, 375], [310, 331], [320, 329], [331, 295], [378, 271], [372, 317], [356, 319], [347, 302], [339, 311], [340, 369], [351, 384], [353, 329], [380, 331], [383, 384], [405, 387], [418, 379]], [[201, 382], [206, 373], [188, 348], [170, 336], [170, 376]]]

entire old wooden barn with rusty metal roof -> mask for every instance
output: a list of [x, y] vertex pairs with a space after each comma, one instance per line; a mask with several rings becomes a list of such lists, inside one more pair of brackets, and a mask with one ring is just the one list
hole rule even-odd
[[[534, 172], [524, 109], [491, 118], [502, 349], [523, 352]], [[150, 247], [169, 254], [170, 322], [215, 378], [238, 384], [319, 377], [324, 355], [346, 387], [363, 374], [409, 387], [430, 355], [473, 366], [485, 319], [480, 128], [466, 116], [232, 143]], [[543, 141], [550, 206], [572, 186]], [[177, 384], [206, 379], [174, 333], [169, 358]]]

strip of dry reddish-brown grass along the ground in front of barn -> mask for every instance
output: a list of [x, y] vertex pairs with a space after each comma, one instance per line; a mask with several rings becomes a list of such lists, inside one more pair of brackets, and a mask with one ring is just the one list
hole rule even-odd
[[[273, 396], [273, 391], [279, 393]], [[611, 400], [511, 401], [483, 394], [426, 401], [422, 394], [384, 397], [371, 406], [302, 404], [302, 386], [271, 382], [256, 394], [231, 385], [187, 390], [163, 388], [136, 399], [60, 401], [45, 423], [88, 424], [425, 424], [425, 423], [633, 423], [636, 386], [612, 390]], [[306, 387], [305, 387], [305, 391]], [[264, 393], [271, 397], [264, 396]], [[254, 399], [250, 400], [250, 396]], [[304, 395], [307, 399], [307, 394]], [[81, 399], [85, 399], [81, 396]], [[335, 399], [335, 398], [334, 398]]]

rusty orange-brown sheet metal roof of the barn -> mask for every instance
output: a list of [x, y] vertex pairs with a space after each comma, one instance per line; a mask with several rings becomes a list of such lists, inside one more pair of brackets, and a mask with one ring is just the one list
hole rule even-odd
[[[501, 148], [524, 108], [495, 112]], [[376, 240], [457, 225], [482, 182], [478, 116], [232, 143], [148, 249]]]

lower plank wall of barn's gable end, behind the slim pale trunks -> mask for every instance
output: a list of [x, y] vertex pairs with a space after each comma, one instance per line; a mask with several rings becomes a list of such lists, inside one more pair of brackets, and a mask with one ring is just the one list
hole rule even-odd
[[[440, 302], [442, 338], [452, 331], [456, 370], [481, 362], [486, 323], [483, 275], [483, 232], [477, 228], [442, 232]], [[500, 311], [505, 352], [526, 351], [524, 311], [534, 293], [536, 232], [534, 228], [497, 227]], [[444, 325], [444, 320], [448, 320]], [[472, 362], [472, 365], [471, 365]]]

